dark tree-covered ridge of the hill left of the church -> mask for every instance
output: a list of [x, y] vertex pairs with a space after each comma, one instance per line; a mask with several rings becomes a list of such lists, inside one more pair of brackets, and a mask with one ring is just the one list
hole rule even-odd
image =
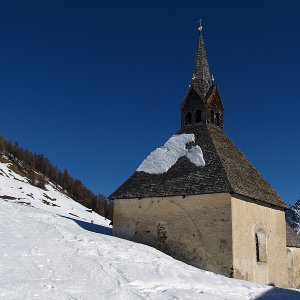
[[23, 149], [0, 136], [0, 162], [10, 164], [10, 169], [28, 182], [42, 189], [51, 182], [76, 202], [112, 219], [112, 206], [102, 194], [95, 195], [80, 180], [73, 178], [68, 170], [60, 171], [47, 157]]

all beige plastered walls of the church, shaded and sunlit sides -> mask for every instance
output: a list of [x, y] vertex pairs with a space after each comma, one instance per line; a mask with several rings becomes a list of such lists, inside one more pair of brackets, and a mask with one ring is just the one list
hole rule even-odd
[[[115, 236], [204, 270], [279, 287], [300, 285], [300, 249], [286, 247], [284, 211], [253, 199], [227, 193], [119, 199], [113, 224]], [[258, 229], [265, 234], [263, 262], [257, 261]]]

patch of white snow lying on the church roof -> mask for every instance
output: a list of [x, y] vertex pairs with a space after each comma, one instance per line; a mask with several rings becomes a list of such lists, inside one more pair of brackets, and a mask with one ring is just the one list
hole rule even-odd
[[157, 148], [138, 167], [138, 172], [161, 174], [167, 172], [177, 160], [186, 156], [196, 166], [205, 166], [201, 148], [196, 145], [191, 149], [186, 144], [195, 142], [194, 134], [173, 135], [162, 147]]

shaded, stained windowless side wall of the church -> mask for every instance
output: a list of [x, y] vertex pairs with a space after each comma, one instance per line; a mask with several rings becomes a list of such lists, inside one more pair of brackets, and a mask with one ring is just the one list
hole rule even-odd
[[114, 200], [115, 236], [232, 276], [231, 195]]

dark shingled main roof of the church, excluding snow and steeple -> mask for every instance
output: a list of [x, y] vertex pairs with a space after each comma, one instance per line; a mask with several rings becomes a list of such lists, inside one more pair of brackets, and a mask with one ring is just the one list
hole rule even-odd
[[[250, 161], [214, 125], [202, 124], [178, 132], [195, 135], [205, 166], [197, 167], [185, 156], [166, 173], [135, 172], [110, 199], [236, 193], [282, 208], [288, 206]], [[192, 145], [194, 146], [194, 145]]]

